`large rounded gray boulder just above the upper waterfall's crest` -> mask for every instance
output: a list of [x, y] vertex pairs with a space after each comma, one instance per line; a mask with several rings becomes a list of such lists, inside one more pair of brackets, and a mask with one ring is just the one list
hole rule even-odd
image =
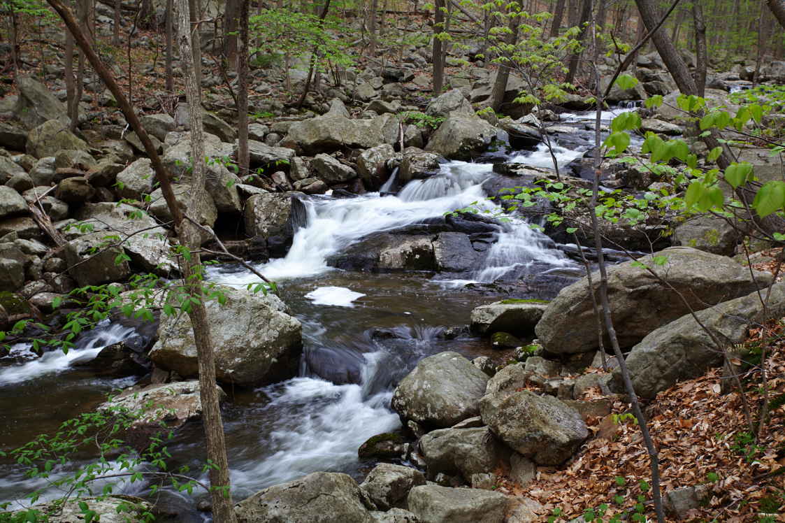
[[484, 152], [498, 129], [475, 115], [451, 114], [433, 133], [426, 151], [447, 159], [472, 159]]

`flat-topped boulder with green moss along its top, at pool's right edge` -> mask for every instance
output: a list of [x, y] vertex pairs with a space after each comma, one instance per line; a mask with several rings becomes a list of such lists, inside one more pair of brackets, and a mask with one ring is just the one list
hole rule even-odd
[[508, 299], [480, 305], [472, 310], [471, 329], [479, 335], [509, 332], [516, 336], [531, 334], [548, 303], [542, 300]]

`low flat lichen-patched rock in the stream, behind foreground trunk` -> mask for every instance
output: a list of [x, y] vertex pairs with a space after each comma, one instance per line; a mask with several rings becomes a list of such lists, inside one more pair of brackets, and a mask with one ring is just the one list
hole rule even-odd
[[[225, 400], [226, 393], [217, 385], [215, 388], [218, 398]], [[131, 387], [101, 404], [98, 410], [140, 412], [129, 427], [135, 432], [158, 432], [162, 430], [161, 423], [169, 429], [177, 429], [202, 415], [199, 380]]]

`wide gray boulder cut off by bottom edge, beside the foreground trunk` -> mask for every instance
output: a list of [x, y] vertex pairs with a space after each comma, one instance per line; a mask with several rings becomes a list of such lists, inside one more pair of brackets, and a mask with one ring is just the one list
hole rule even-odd
[[346, 474], [315, 472], [243, 499], [235, 514], [238, 523], [374, 523], [366, 499]]

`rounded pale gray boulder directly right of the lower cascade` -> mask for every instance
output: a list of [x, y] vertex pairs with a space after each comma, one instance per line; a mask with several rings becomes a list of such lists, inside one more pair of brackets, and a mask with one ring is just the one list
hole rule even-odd
[[480, 412], [488, 377], [458, 353], [421, 360], [392, 394], [392, 408], [425, 426], [449, 427]]

